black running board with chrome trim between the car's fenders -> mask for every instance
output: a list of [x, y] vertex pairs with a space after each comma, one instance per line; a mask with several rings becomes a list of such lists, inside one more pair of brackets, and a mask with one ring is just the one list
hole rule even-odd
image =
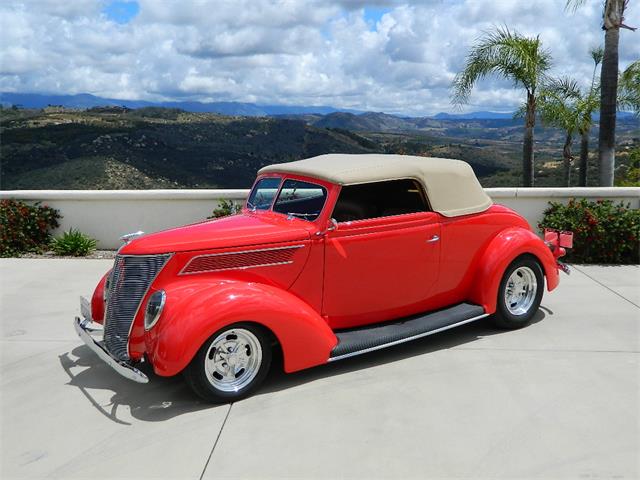
[[330, 362], [433, 335], [488, 316], [480, 305], [460, 303], [433, 313], [336, 332]]

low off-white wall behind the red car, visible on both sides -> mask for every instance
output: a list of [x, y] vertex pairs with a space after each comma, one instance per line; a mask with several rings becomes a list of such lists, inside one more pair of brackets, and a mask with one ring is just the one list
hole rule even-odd
[[[513, 208], [534, 229], [549, 201], [570, 198], [611, 199], [640, 208], [640, 187], [624, 188], [488, 188], [494, 202]], [[220, 199], [243, 201], [249, 190], [13, 190], [0, 199], [40, 201], [63, 215], [55, 234], [69, 228], [98, 240], [100, 248], [115, 249], [125, 233], [156, 232], [197, 222], [211, 215]]]

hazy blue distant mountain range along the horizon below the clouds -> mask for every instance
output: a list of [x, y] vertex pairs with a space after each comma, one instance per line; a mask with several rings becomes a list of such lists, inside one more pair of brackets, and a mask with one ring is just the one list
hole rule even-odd
[[[18, 105], [24, 108], [44, 108], [50, 105], [60, 105], [67, 108], [87, 109], [102, 106], [123, 106], [127, 108], [165, 107], [179, 108], [195, 113], [219, 113], [221, 115], [238, 115], [246, 117], [265, 117], [275, 115], [328, 115], [332, 113], [371, 114], [360, 110], [335, 108], [330, 106], [288, 106], [288, 105], [258, 105], [243, 102], [149, 102], [145, 100], [118, 100], [114, 98], [97, 97], [88, 93], [77, 95], [45, 95], [40, 93], [12, 93], [0, 92], [0, 104], [3, 106]], [[401, 119], [399, 115], [387, 115]], [[452, 114], [441, 112], [433, 117], [437, 120], [478, 120], [478, 119], [511, 119], [513, 113], [499, 112], [470, 112]], [[390, 120], [392, 121], [392, 120]], [[363, 118], [363, 125], [366, 124]], [[393, 121], [392, 121], [393, 122]], [[363, 128], [366, 130], [366, 128]]]

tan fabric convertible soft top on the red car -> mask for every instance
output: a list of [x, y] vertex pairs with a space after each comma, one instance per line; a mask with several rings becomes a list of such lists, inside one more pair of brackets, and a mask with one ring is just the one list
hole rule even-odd
[[447, 158], [332, 153], [269, 165], [258, 173], [292, 173], [338, 185], [415, 178], [423, 184], [431, 208], [447, 217], [482, 212], [492, 204], [471, 166]]

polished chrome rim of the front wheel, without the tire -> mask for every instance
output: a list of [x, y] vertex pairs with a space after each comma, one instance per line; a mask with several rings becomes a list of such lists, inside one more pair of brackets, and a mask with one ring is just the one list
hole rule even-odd
[[211, 342], [204, 358], [207, 379], [223, 392], [237, 392], [249, 385], [261, 364], [260, 341], [244, 328], [222, 332]]

